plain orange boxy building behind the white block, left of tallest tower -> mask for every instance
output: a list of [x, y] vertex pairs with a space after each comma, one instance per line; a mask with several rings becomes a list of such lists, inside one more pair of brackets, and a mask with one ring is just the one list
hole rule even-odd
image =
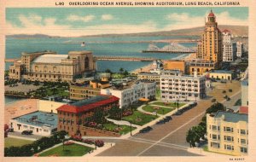
[[166, 61], [164, 65], [165, 70], [179, 70], [183, 73], [186, 71], [185, 61]]

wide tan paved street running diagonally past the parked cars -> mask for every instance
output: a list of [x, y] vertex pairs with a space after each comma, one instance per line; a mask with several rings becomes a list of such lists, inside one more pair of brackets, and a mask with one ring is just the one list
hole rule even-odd
[[[116, 145], [98, 156], [200, 156], [189, 153], [189, 144], [185, 140], [186, 132], [192, 126], [199, 124], [208, 107], [212, 105], [212, 98], [224, 102], [222, 90], [227, 92], [235, 103], [239, 98], [241, 86], [234, 81], [228, 84], [215, 84], [207, 99], [199, 101], [198, 105], [180, 116], [174, 116], [166, 124], [154, 125], [153, 130], [145, 134], [137, 134], [125, 140], [119, 140]], [[234, 98], [234, 99], [233, 99]]]

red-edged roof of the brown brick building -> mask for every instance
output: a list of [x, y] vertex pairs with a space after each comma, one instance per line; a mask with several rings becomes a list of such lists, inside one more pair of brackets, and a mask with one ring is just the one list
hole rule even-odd
[[83, 113], [94, 109], [96, 107], [101, 107], [109, 103], [119, 101], [119, 98], [113, 95], [97, 95], [90, 99], [78, 101], [72, 104], [62, 105], [57, 108], [57, 111], [67, 112], [67, 113]]

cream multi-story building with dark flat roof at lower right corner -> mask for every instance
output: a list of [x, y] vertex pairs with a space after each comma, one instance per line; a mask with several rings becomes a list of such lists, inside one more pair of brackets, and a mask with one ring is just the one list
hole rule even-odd
[[208, 150], [230, 155], [247, 155], [248, 115], [221, 112], [207, 114]]

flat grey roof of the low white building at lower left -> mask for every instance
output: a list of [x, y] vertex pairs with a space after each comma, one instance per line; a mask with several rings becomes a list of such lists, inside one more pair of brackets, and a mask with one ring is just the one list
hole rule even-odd
[[55, 113], [44, 113], [44, 112], [34, 112], [22, 115], [15, 118], [20, 123], [30, 124], [34, 126], [46, 126], [52, 129], [57, 127], [57, 114]]

